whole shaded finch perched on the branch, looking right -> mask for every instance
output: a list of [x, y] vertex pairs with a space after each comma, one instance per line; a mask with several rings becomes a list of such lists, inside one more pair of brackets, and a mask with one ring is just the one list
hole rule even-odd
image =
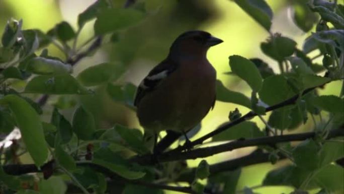
[[190, 143], [186, 133], [213, 109], [216, 70], [207, 59], [207, 51], [222, 42], [209, 32], [184, 32], [171, 44], [167, 57], [140, 82], [134, 106], [145, 133], [154, 135], [153, 153], [157, 152], [161, 131], [169, 130], [173, 136], [164, 147], [182, 134]]

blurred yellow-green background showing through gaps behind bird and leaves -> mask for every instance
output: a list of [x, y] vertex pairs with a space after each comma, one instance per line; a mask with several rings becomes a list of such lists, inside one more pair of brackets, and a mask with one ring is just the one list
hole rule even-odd
[[[94, 0], [2, 0], [0, 1], [0, 31], [4, 31], [7, 20], [10, 18], [23, 19], [23, 29], [41, 29], [47, 32], [55, 24], [67, 21], [74, 29], [77, 29], [77, 16]], [[119, 82], [131, 82], [138, 85], [149, 70], [167, 55], [171, 42], [182, 32], [187, 30], [205, 30], [213, 36], [224, 40], [224, 43], [212, 47], [208, 52], [208, 59], [217, 70], [217, 77], [226, 87], [234, 91], [240, 91], [250, 96], [250, 90], [244, 82], [239, 82], [234, 76], [225, 74], [229, 72], [228, 56], [239, 54], [246, 58], [259, 57], [270, 64], [275, 72], [278, 72], [276, 61], [263, 55], [260, 43], [268, 38], [269, 33], [257, 24], [251, 17], [244, 13], [235, 3], [228, 0], [193, 0], [193, 1], [138, 1], [135, 6], [146, 9], [148, 17], [139, 25], [120, 31], [115, 40], [106, 37], [100, 49], [93, 56], [85, 57], [74, 68], [74, 75], [81, 70], [105, 61], [119, 61], [127, 67], [127, 71]], [[282, 33], [293, 38], [298, 47], [302, 47], [302, 41], [309, 35], [301, 31], [293, 23], [292, 1], [280, 0], [267, 1], [274, 12], [272, 32]], [[124, 1], [113, 1], [116, 7], [122, 7]], [[111, 20], [111, 18], [109, 18]], [[78, 44], [81, 45], [93, 36], [93, 22], [88, 23], [81, 31]], [[49, 46], [49, 54], [64, 57], [56, 47]], [[316, 53], [314, 53], [315, 55]], [[319, 59], [320, 60], [320, 59]], [[338, 94], [338, 83], [329, 84], [326, 94]], [[20, 85], [20, 84], [19, 84]], [[74, 98], [70, 96], [70, 98]], [[51, 114], [51, 104], [59, 99], [53, 96], [49, 99], [44, 109], [43, 119], [48, 120]], [[88, 95], [75, 99], [75, 102], [87, 106], [95, 115], [98, 126], [106, 128], [114, 123], [125, 124], [129, 127], [139, 126], [135, 112], [111, 100], [105, 92], [105, 87], [96, 88], [94, 95]], [[202, 121], [202, 130], [196, 136], [199, 137], [209, 130], [213, 130], [221, 123], [228, 120], [228, 113], [238, 107], [241, 113], [247, 108], [238, 105], [216, 102], [215, 108]], [[67, 118], [71, 118], [72, 109], [66, 108], [63, 112]], [[268, 115], [267, 115], [268, 116]], [[267, 117], [266, 116], [266, 117]], [[268, 118], [268, 117], [267, 117]], [[254, 119], [261, 128], [264, 124]], [[308, 122], [299, 130], [311, 128]], [[207, 158], [212, 164], [248, 154], [254, 148], [238, 149], [228, 153], [222, 153]], [[23, 160], [30, 163], [30, 160]], [[189, 166], [196, 166], [200, 160], [188, 161]], [[260, 164], [242, 169], [237, 190], [245, 186], [260, 185], [265, 174], [271, 168], [278, 165]], [[260, 193], [289, 193], [292, 187], [264, 187], [254, 191]], [[176, 192], [167, 192], [176, 193]], [[243, 193], [243, 192], [242, 192]]]

